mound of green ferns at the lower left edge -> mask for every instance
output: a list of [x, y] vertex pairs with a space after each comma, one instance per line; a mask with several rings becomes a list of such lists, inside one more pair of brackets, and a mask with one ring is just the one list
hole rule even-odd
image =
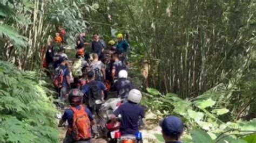
[[38, 77], [0, 62], [0, 142], [58, 142], [57, 111]]

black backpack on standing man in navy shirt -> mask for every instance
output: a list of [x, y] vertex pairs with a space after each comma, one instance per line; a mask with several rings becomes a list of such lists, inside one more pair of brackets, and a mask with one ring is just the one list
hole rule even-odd
[[88, 91], [88, 102], [90, 108], [96, 106], [95, 101], [100, 100], [102, 101], [102, 91], [97, 86], [97, 81], [92, 81], [88, 83], [90, 85], [90, 89]]

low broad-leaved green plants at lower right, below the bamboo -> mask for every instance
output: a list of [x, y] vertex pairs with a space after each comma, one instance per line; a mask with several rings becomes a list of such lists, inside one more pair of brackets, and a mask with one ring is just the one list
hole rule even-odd
[[[167, 115], [181, 117], [188, 133], [183, 136], [184, 142], [252, 142], [256, 138], [256, 119], [225, 122], [222, 117], [231, 113], [219, 101], [224, 95], [220, 89], [214, 88], [197, 98], [184, 100], [176, 94], [161, 95], [149, 88], [142, 104], [159, 119]], [[216, 92], [219, 95], [215, 95]], [[156, 137], [160, 140], [160, 135]]]

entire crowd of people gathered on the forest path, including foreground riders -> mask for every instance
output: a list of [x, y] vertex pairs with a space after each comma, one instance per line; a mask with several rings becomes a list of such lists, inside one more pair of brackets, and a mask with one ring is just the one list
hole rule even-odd
[[[122, 115], [121, 134], [139, 132], [138, 120], [145, 116], [144, 109], [138, 105], [142, 92], [127, 78], [127, 52], [130, 46], [123, 34], [117, 35], [117, 42], [110, 40], [106, 45], [98, 34], [93, 34], [89, 43], [87, 33], [80, 33], [76, 37], [75, 60], [70, 62], [63, 46], [67, 44], [65, 33], [59, 27], [59, 33], [48, 44], [44, 60], [44, 67], [53, 70], [49, 75], [58, 92], [57, 97], [63, 103], [70, 104], [59, 121], [59, 126], [68, 121], [69, 129], [64, 142], [91, 142], [92, 138], [105, 137], [106, 119], [100, 106], [108, 99], [110, 91], [116, 92], [117, 97], [125, 101], [113, 112], [111, 120], [114, 122], [118, 115]], [[56, 43], [61, 46], [56, 48]], [[91, 48], [91, 53], [86, 47]], [[177, 117], [166, 117], [160, 126], [166, 141], [178, 141], [183, 132], [183, 124]]]

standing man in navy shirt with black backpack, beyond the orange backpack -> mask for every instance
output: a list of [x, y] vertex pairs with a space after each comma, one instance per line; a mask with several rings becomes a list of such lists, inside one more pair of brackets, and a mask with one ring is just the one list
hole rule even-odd
[[[101, 104], [97, 104], [95, 105], [95, 101], [93, 99], [107, 99], [107, 88], [105, 87], [103, 82], [100, 81], [95, 81], [95, 74], [93, 73], [93, 71], [88, 71], [87, 72], [87, 83], [82, 87], [82, 92], [85, 95], [84, 99], [85, 102], [88, 101], [86, 104], [88, 105], [88, 108], [91, 110], [92, 115], [96, 116], [99, 120], [99, 125], [102, 129], [103, 135], [105, 135], [105, 124], [106, 124], [106, 120], [104, 118], [104, 114], [105, 112], [103, 110], [100, 110]], [[97, 95], [92, 95], [92, 90], [94, 88], [97, 88], [96, 90], [98, 91]], [[95, 94], [95, 92], [93, 92], [93, 94]], [[104, 94], [104, 97], [102, 96]], [[98, 96], [98, 97], [95, 97]], [[93, 99], [90, 99], [90, 98]], [[90, 102], [92, 101], [92, 102]], [[93, 125], [92, 126], [92, 137], [96, 137], [98, 136], [98, 128], [97, 125]]]

